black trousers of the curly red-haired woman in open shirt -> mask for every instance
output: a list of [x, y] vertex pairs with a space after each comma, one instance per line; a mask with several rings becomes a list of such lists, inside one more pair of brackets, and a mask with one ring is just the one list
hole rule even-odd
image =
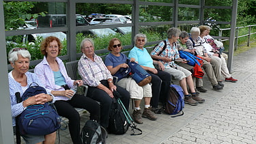
[[73, 143], [82, 144], [80, 136], [80, 115], [74, 108], [86, 109], [90, 113], [90, 119], [100, 121], [100, 104], [91, 98], [75, 94], [71, 100], [57, 100], [55, 107], [61, 117], [69, 120], [68, 128]]

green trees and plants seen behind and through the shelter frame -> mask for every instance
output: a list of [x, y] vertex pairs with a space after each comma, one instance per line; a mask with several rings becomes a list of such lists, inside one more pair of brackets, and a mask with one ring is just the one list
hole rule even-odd
[[[165, 2], [171, 3], [169, 0], [155, 0], [154, 2]], [[179, 4], [186, 5], [199, 5], [199, 0], [180, 0]], [[205, 5], [211, 6], [231, 6], [231, 0], [212, 0], [205, 1]], [[18, 27], [24, 25], [25, 20], [30, 20], [31, 18], [37, 18], [38, 15], [45, 14], [66, 14], [66, 4], [65, 3], [42, 3], [42, 2], [19, 2], [19, 1], [3, 1], [4, 6], [4, 16], [5, 16], [5, 29], [18, 29]], [[50, 9], [51, 12], [48, 10]], [[141, 22], [154, 22], [154, 21], [170, 21], [172, 20], [172, 8], [167, 6], [158, 5], [140, 5], [139, 16]], [[101, 14], [131, 14], [132, 5], [128, 4], [110, 4], [110, 3], [77, 3], [76, 13], [87, 15], [91, 13], [101, 13]], [[178, 20], [197, 20], [199, 17], [199, 10], [197, 8], [180, 8], [178, 12]], [[224, 9], [205, 9], [205, 20], [212, 18], [212, 20], [217, 21], [230, 21], [231, 20], [231, 10]], [[238, 16], [237, 16], [237, 27], [252, 25], [256, 21], [256, 1], [255, 0], [239, 0], [238, 1]], [[189, 32], [189, 29], [195, 25], [180, 25], [179, 28]], [[148, 38], [148, 42], [155, 40], [162, 40], [166, 38], [166, 31], [171, 25], [158, 25], [152, 27], [140, 27], [139, 32], [145, 33]], [[218, 29], [228, 28], [230, 25], [212, 25], [212, 34], [218, 35]], [[248, 28], [241, 29], [239, 35], [244, 35], [248, 31]], [[252, 31], [256, 31], [252, 29]], [[223, 36], [229, 35], [229, 32], [224, 32]], [[93, 38], [88, 36], [89, 38]], [[76, 36], [76, 52], [80, 53], [80, 42], [85, 38], [84, 35], [78, 34]], [[108, 35], [101, 38], [94, 38], [96, 45], [96, 50], [107, 48], [109, 40], [111, 38], [119, 38], [123, 45], [131, 44], [131, 34], [121, 35], [117, 33], [116, 35]], [[9, 37], [8, 40], [13, 42], [20, 42], [18, 37]], [[239, 39], [242, 43], [246, 41], [246, 38]], [[42, 59], [42, 55], [39, 51], [41, 40], [33, 42], [34, 44], [21, 44], [18, 43], [16, 46], [23, 46], [29, 48], [32, 55], [32, 60]], [[228, 44], [225, 42], [225, 44]], [[8, 51], [12, 48], [14, 44], [9, 43], [7, 45]], [[63, 42], [63, 51], [61, 55], [66, 55], [66, 41]]]

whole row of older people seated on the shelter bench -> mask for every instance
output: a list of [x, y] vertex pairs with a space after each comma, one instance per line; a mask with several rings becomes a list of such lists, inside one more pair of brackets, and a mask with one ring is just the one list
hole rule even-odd
[[[34, 73], [28, 72], [31, 55], [27, 48], [12, 48], [8, 59], [13, 68], [9, 72], [10, 99], [12, 105], [12, 124], [15, 126], [15, 117], [22, 113], [27, 106], [32, 104], [44, 104], [53, 102], [57, 113], [69, 120], [68, 128], [73, 143], [80, 144], [80, 115], [74, 108], [82, 108], [90, 113], [90, 119], [107, 129], [109, 126], [109, 113], [113, 101], [113, 91], [118, 91], [121, 100], [128, 111], [130, 98], [134, 100], [132, 117], [137, 124], [143, 124], [142, 117], [156, 120], [156, 114], [162, 113], [158, 107], [159, 102], [165, 102], [168, 89], [171, 85], [171, 76], [180, 82], [184, 91], [186, 104], [197, 105], [205, 100], [199, 97], [199, 92], [206, 92], [201, 78], [195, 78], [190, 72], [186, 59], [181, 59], [179, 51], [188, 51], [193, 55], [203, 58], [202, 68], [208, 75], [212, 87], [215, 90], [223, 89], [222, 75], [225, 81], [235, 82], [227, 70], [223, 56], [217, 55], [214, 48], [208, 49], [203, 44], [208, 44], [207, 37], [210, 28], [205, 26], [193, 27], [190, 35], [186, 31], [170, 28], [167, 31], [166, 42], [160, 42], [151, 53], [144, 48], [147, 37], [143, 33], [134, 36], [134, 48], [128, 57], [121, 53], [122, 42], [113, 38], [109, 42], [110, 53], [105, 61], [94, 53], [94, 41], [85, 38], [81, 42], [83, 55], [78, 63], [78, 71], [82, 80], [72, 80], [68, 76], [63, 61], [58, 55], [61, 52], [61, 42], [58, 38], [50, 36], [45, 38], [40, 46], [44, 59], [35, 66]], [[163, 47], [166, 44], [165, 50]], [[213, 53], [212, 53], [213, 51]], [[126, 61], [134, 61], [152, 76], [150, 84], [143, 87], [137, 85], [131, 77], [123, 77], [122, 69], [128, 68]], [[154, 60], [157, 59], [157, 60]], [[180, 60], [181, 62], [175, 62]], [[117, 84], [113, 82], [113, 76], [118, 77]], [[27, 100], [17, 103], [15, 93], [20, 96], [31, 83], [38, 83], [44, 87], [47, 94], [32, 96]], [[70, 90], [76, 85], [88, 85], [87, 96], [79, 95]], [[197, 91], [198, 90], [198, 91]], [[144, 99], [143, 111], [140, 108]], [[55, 143], [56, 132], [44, 136], [23, 135], [26, 143]]]

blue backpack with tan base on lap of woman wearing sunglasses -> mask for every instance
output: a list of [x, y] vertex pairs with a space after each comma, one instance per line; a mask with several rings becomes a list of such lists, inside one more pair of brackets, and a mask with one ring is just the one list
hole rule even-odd
[[152, 80], [152, 76], [144, 70], [138, 63], [135, 62], [128, 62], [128, 66], [131, 69], [132, 78], [136, 81], [139, 86], [147, 85]]

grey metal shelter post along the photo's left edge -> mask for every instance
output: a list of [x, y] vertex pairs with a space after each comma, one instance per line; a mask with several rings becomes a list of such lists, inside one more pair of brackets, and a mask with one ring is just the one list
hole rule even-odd
[[8, 82], [8, 67], [5, 47], [5, 26], [3, 15], [3, 1], [0, 1], [0, 143], [14, 143], [12, 130], [12, 115]]

